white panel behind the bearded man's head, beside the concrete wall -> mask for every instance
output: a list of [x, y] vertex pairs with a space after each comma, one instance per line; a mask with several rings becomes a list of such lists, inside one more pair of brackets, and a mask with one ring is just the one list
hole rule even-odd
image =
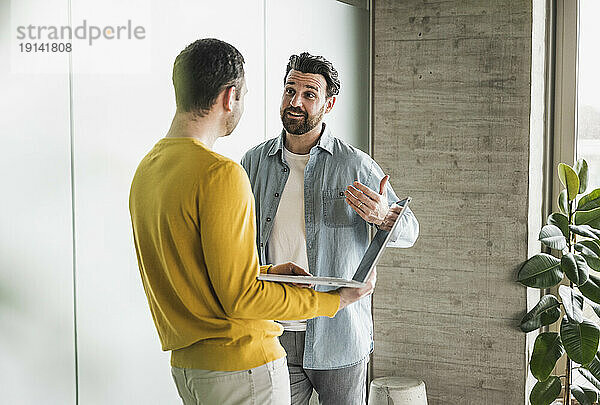
[[292, 54], [309, 52], [333, 63], [340, 94], [325, 122], [333, 134], [368, 152], [369, 12], [336, 0], [266, 0], [267, 138], [282, 129], [279, 106]]

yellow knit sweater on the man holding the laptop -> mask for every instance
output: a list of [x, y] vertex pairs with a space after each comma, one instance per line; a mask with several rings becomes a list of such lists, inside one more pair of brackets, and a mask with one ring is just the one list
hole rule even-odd
[[285, 355], [269, 319], [333, 316], [337, 292], [257, 280], [254, 197], [244, 169], [193, 138], [144, 157], [129, 210], [163, 350], [182, 368], [234, 371]]

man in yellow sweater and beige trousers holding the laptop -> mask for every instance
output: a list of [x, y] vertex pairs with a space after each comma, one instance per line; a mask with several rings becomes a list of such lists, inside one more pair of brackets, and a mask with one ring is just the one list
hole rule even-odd
[[322, 293], [257, 280], [259, 272], [306, 273], [293, 263], [259, 266], [246, 172], [212, 151], [244, 111], [243, 63], [216, 39], [177, 56], [177, 111], [131, 185], [140, 274], [186, 405], [289, 403], [282, 327], [272, 319], [333, 317], [375, 284]]

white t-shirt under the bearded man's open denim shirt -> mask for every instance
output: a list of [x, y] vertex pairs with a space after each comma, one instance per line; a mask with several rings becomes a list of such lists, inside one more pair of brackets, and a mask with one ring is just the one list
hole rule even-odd
[[[310, 155], [297, 155], [283, 148], [290, 175], [281, 193], [273, 230], [267, 244], [269, 263], [294, 262], [308, 271], [304, 226], [304, 168]], [[304, 331], [306, 320], [279, 321], [285, 330]]]

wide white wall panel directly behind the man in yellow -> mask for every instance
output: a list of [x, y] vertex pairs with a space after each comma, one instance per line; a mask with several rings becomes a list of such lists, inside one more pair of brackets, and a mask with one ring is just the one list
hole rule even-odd
[[[93, 16], [103, 24], [131, 19], [147, 26], [145, 43], [117, 44], [120, 49], [94, 44], [74, 53], [82, 404], [179, 403], [169, 354], [160, 350], [135, 261], [129, 187], [139, 161], [165, 135], [175, 112], [175, 56], [196, 39], [228, 41], [246, 59], [245, 114], [215, 149], [239, 161], [246, 149], [263, 139], [262, 4], [73, 0], [74, 23]], [[111, 64], [124, 73], [115, 73]], [[102, 66], [106, 70], [98, 71]]]

